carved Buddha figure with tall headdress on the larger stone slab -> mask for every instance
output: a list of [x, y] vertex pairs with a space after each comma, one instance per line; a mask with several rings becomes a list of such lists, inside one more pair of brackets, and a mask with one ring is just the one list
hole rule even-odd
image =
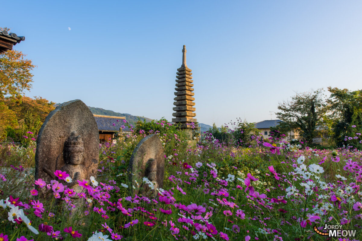
[[78, 184], [77, 180], [87, 180], [87, 168], [84, 164], [84, 144], [80, 135], [72, 132], [70, 137], [64, 142], [63, 158], [65, 165], [60, 168], [72, 178], [72, 182], [67, 184], [72, 187]]

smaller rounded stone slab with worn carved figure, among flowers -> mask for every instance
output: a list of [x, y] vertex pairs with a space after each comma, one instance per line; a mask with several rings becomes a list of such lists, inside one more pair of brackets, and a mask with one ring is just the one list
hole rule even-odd
[[[149, 191], [156, 195], [156, 188], [163, 187], [165, 169], [165, 157], [162, 142], [157, 134], [151, 134], [143, 138], [134, 149], [130, 164], [128, 167], [129, 181], [131, 185], [137, 186], [136, 181], [141, 186], [140, 189], [132, 189], [135, 193], [141, 191], [142, 194], [147, 194]], [[153, 190], [148, 189], [148, 185], [142, 186], [143, 177], [147, 177], [152, 183], [155, 183]]]

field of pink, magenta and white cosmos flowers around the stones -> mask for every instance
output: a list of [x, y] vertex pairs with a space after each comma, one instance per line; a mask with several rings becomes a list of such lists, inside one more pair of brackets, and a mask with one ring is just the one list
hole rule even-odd
[[[0, 241], [328, 240], [314, 231], [328, 232], [326, 224], [355, 231], [329, 240], [362, 239], [361, 151], [273, 138], [245, 148], [210, 135], [191, 148], [182, 131], [157, 125], [101, 144], [98, 175], [79, 182], [81, 193], [59, 170], [51, 183], [22, 175], [34, 167], [34, 146], [1, 146]], [[142, 184], [154, 188], [146, 177], [129, 183], [127, 167], [136, 144], [155, 132], [165, 147], [163, 189], [131, 195]], [[39, 189], [52, 198], [38, 199]]]

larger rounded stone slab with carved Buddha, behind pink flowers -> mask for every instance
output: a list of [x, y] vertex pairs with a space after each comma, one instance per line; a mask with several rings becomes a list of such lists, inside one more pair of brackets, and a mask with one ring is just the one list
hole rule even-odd
[[[60, 104], [46, 117], [39, 130], [35, 152], [35, 180], [47, 184], [58, 180], [56, 170], [66, 171], [73, 179], [67, 186], [79, 192], [77, 180], [97, 177], [99, 134], [96, 120], [81, 100]], [[79, 189], [79, 190], [78, 190]], [[38, 189], [46, 198], [46, 188]]]

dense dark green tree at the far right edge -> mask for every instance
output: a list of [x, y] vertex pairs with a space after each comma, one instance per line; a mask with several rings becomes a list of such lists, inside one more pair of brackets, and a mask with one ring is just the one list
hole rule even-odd
[[[337, 146], [343, 146], [348, 137], [355, 137], [355, 133], [362, 132], [362, 90], [349, 91], [328, 87], [331, 92], [328, 103], [332, 112], [332, 138]], [[352, 126], [356, 127], [352, 127]], [[361, 149], [358, 138], [352, 141], [353, 146]], [[353, 141], [354, 140], [354, 141]]]

